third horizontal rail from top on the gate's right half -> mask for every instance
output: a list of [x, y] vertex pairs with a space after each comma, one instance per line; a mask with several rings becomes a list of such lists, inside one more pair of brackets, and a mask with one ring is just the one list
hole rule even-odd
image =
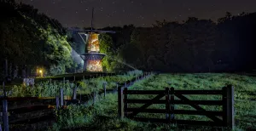
[[187, 115], [213, 115], [222, 116], [223, 111], [191, 111], [191, 110], [174, 110], [174, 114], [187, 114]]

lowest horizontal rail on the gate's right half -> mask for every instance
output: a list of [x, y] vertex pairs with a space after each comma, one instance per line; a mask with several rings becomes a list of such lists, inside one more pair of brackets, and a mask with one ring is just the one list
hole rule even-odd
[[175, 120], [174, 123], [183, 125], [201, 125], [201, 126], [223, 126], [221, 122], [210, 122], [210, 121], [190, 121], [190, 120]]

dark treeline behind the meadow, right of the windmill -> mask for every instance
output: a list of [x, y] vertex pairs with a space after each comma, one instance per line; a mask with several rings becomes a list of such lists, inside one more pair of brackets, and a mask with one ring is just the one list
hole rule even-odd
[[113, 41], [110, 53], [105, 53], [141, 70], [217, 72], [256, 67], [256, 13], [233, 16], [227, 12], [218, 22], [192, 17], [183, 23], [163, 20], [148, 28], [130, 25], [103, 30], [117, 32], [102, 35], [110, 35]]

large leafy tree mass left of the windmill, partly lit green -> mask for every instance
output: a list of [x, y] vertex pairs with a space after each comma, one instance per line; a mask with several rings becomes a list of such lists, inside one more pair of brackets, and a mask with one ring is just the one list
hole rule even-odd
[[3, 49], [0, 56], [13, 64], [10, 68], [44, 65], [50, 69], [49, 75], [64, 73], [72, 64], [71, 47], [60, 23], [38, 13], [32, 6], [0, 3], [1, 9], [9, 12], [9, 15], [0, 13], [3, 17], [0, 20], [0, 48]]

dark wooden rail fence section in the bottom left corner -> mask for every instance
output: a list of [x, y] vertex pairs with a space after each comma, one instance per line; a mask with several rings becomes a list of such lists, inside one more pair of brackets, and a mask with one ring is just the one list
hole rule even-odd
[[[41, 121], [48, 121], [49, 119], [54, 119], [55, 115], [53, 114], [53, 109], [60, 109], [65, 108], [66, 105], [73, 104], [73, 103], [79, 103], [79, 100], [76, 100], [76, 90], [77, 88], [73, 89], [73, 99], [71, 97], [64, 96], [63, 94], [63, 88], [60, 89], [60, 97], [57, 95], [56, 97], [7, 97], [6, 94], [4, 96], [0, 97], [0, 100], [2, 101], [2, 122], [3, 122], [3, 130], [9, 131], [9, 123], [28, 123], [28, 122], [41, 122]], [[34, 101], [40, 101], [40, 102], [34, 102]], [[22, 103], [26, 101], [26, 104], [21, 104], [21, 106], [18, 105], [10, 105], [10, 103]], [[27, 102], [30, 102], [29, 104]], [[38, 104], [40, 103], [40, 104]], [[9, 109], [10, 107], [10, 109]], [[15, 115], [22, 115], [30, 112], [37, 112], [37, 111], [49, 111], [48, 114], [45, 114], [41, 117], [30, 117], [25, 118], [22, 120], [15, 120], [10, 121], [9, 117], [13, 117]], [[0, 131], [2, 130], [1, 124], [0, 124]]]

